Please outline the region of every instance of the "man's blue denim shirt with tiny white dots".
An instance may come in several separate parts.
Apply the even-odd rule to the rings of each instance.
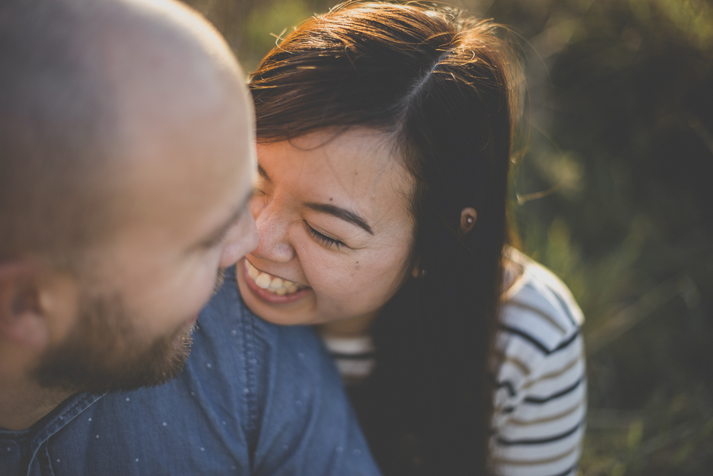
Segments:
[[[0,475],[379,475],[310,328],[257,318],[234,268],[198,324],[174,381],[74,395],[30,430],[0,430]]]

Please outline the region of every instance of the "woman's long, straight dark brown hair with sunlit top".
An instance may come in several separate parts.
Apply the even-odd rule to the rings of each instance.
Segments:
[[[501,294],[514,95],[499,27],[454,9],[349,3],[314,16],[252,74],[259,142],[352,127],[391,134],[415,178],[409,269],[352,392],[386,475],[482,475],[488,353]],[[473,229],[461,233],[461,209]]]

